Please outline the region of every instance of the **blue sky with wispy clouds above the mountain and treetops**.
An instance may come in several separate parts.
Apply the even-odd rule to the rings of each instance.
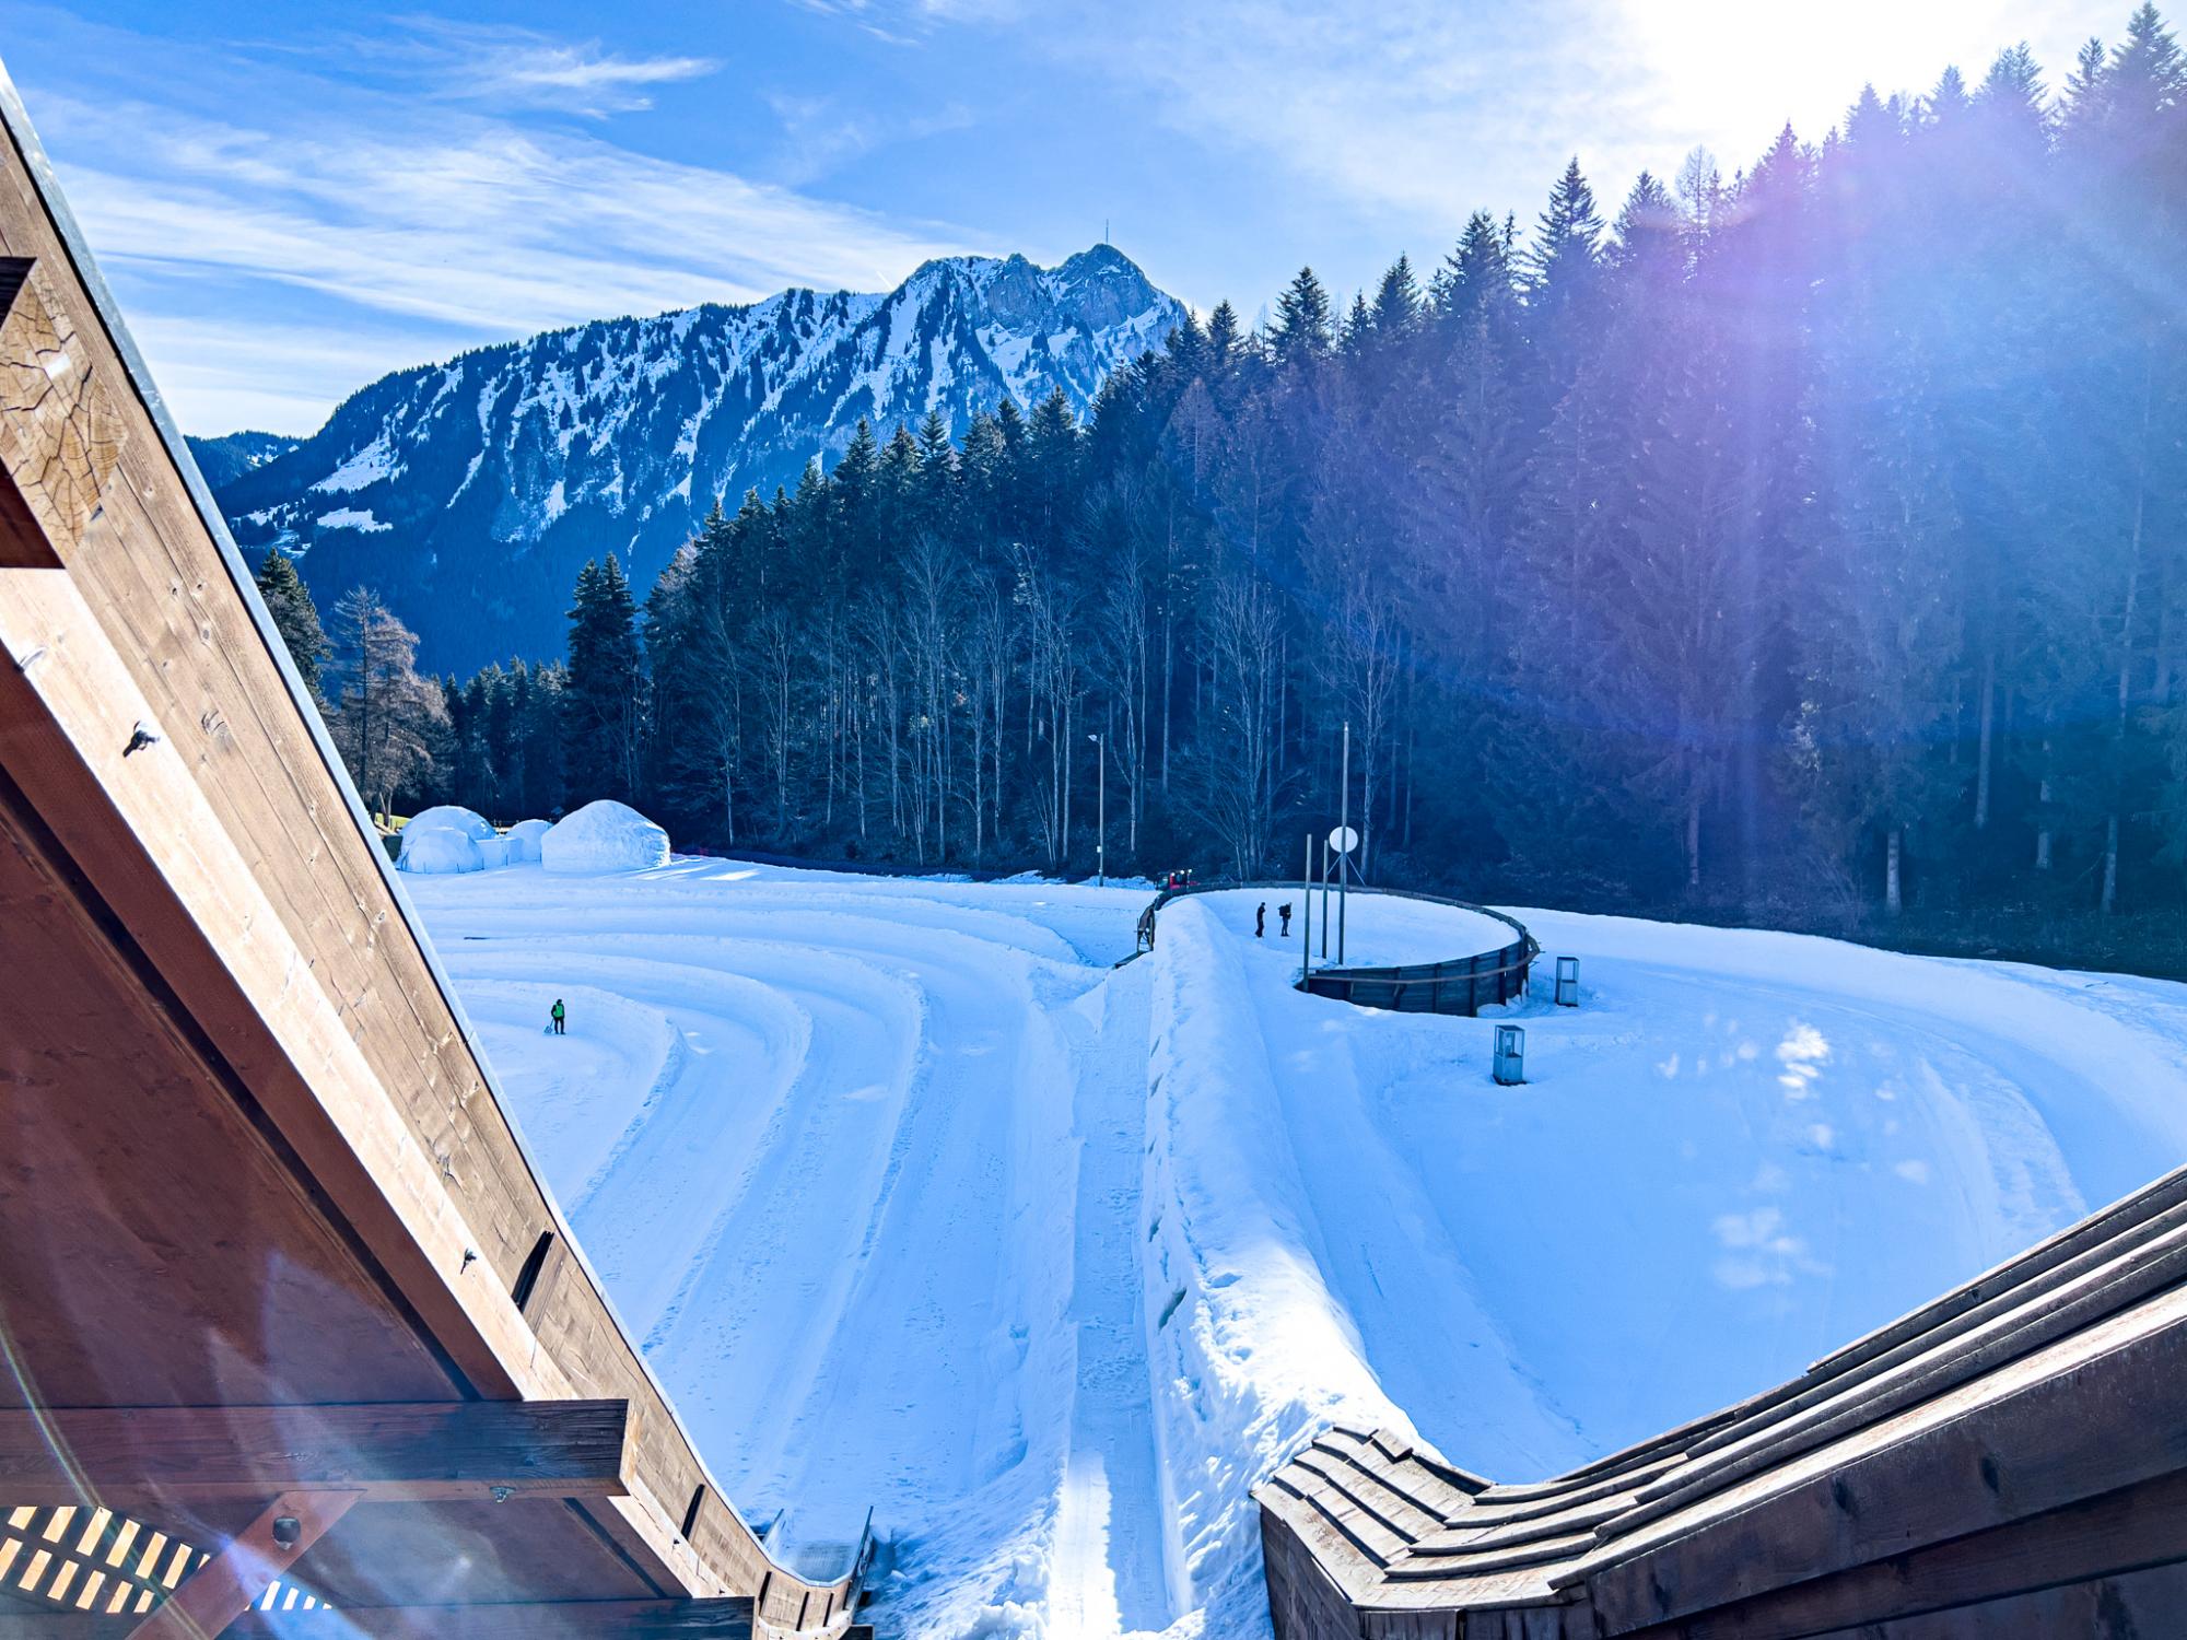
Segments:
[[[0,52],[192,433],[315,429],[461,348],[1102,236],[1249,317],[1465,212],[1605,214],[1693,147],[1977,79],[2128,0],[0,0]]]

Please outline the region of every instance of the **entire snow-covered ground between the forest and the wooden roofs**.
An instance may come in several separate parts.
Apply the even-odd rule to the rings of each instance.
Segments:
[[[1494,1015],[1295,993],[1266,894],[1122,969],[1144,888],[411,894],[730,1496],[811,1570],[868,1504],[894,1539],[884,1633],[1264,1633],[1247,1491],[1323,1421],[1546,1476],[2187,1159],[2161,982],[1520,912],[1583,1006],[1502,1015],[1502,1089]],[[1478,934],[1347,914],[1354,960]]]

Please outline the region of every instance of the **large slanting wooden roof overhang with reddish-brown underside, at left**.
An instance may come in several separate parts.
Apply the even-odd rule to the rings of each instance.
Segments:
[[[201,1601],[256,1546],[348,1633],[840,1627],[525,1155],[4,72],[0,125],[0,1522]],[[59,1631],[35,1553],[0,1636]]]

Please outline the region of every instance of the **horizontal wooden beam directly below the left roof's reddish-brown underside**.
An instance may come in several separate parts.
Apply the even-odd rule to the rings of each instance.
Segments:
[[[0,1500],[619,1498],[630,1402],[0,1410]]]

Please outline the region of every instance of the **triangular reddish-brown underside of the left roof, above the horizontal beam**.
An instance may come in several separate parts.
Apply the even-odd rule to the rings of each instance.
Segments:
[[[0,1406],[457,1399],[81,890],[0,776]]]

